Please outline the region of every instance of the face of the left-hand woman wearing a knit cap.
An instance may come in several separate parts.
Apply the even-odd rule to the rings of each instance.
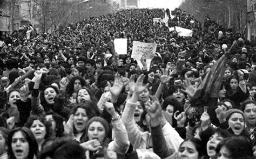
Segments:
[[[106,136],[106,131],[101,122],[93,121],[88,127],[89,140],[97,139],[100,143],[103,142]]]

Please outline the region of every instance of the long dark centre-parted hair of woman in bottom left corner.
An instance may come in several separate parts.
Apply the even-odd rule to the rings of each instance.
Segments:
[[[36,142],[36,138],[33,135],[33,133],[30,131],[29,128],[27,127],[18,127],[15,129],[12,129],[12,131],[10,132],[9,136],[8,136],[8,149],[9,149],[9,157],[12,158],[16,158],[14,153],[12,152],[12,136],[14,136],[15,133],[17,132],[21,132],[24,135],[24,138],[28,141],[29,143],[29,155],[28,158],[29,159],[33,159],[34,156],[37,156],[38,153],[38,146],[37,146],[37,142]]]

